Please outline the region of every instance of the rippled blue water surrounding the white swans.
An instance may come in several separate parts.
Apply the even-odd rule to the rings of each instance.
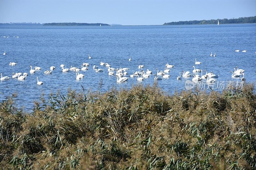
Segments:
[[[180,29],[179,29],[180,27]],[[5,37],[4,37],[5,36]],[[7,36],[9,36],[7,38]],[[14,37],[13,37],[14,36]],[[19,36],[19,38],[17,38]],[[235,50],[247,52],[235,52]],[[6,51],[6,55],[2,55]],[[111,67],[127,67],[128,76],[133,71],[156,68],[164,70],[165,64],[174,65],[170,78],[158,81],[158,86],[168,93],[185,90],[186,78],[177,80],[182,70],[192,73],[195,58],[202,62],[196,68],[213,71],[219,74],[216,82],[241,82],[240,78],[231,78],[230,70],[235,66],[245,70],[247,82],[256,78],[256,24],[232,25],[192,25],[192,26],[0,26],[0,72],[3,76],[12,77],[12,72],[27,72],[25,81],[11,78],[0,81],[0,100],[16,92],[16,103],[25,109],[33,108],[33,101],[40,95],[60,90],[67,93],[68,88],[97,91],[108,91],[112,86],[129,88],[133,84],[152,85],[154,76],[138,82],[129,78],[126,83],[116,83],[115,76],[108,76],[108,70],[100,62],[109,63]],[[216,57],[211,57],[211,52]],[[92,59],[88,59],[88,55]],[[132,61],[129,62],[129,56]],[[17,63],[9,66],[10,62]],[[80,71],[84,78],[76,80],[74,71],[63,73],[60,64],[65,68],[80,67],[90,63],[89,70]],[[29,73],[29,66],[41,67],[35,74]],[[96,73],[93,65],[104,69]],[[55,66],[52,75],[44,75],[45,70]],[[43,81],[37,85],[36,77]],[[193,77],[188,78],[192,80]],[[205,83],[205,80],[204,80]],[[216,87],[215,83],[215,87]],[[225,86],[226,87],[226,86]],[[207,88],[207,86],[206,86]],[[216,90],[220,90],[216,88]]]

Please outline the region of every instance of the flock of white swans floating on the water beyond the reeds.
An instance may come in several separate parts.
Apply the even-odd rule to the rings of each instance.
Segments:
[[[4,52],[3,55],[5,55],[6,53]],[[212,56],[212,53],[211,53],[211,56]],[[216,56],[216,53],[214,53],[214,56]],[[91,59],[91,55],[89,55],[88,59]],[[195,59],[196,60],[196,59]],[[129,57],[128,59],[129,62],[132,61],[131,59],[131,56]],[[195,65],[200,65],[202,62],[198,62],[196,61],[195,62]],[[17,63],[14,63],[14,62],[10,62],[10,66],[15,66]],[[62,72],[68,72],[68,71],[74,71],[76,73],[76,80],[80,80],[81,78],[84,78],[84,74],[80,74],[79,71],[82,70],[82,71],[85,71],[85,70],[88,70],[89,69],[89,63],[83,63],[81,68],[79,67],[70,67],[70,68],[64,68],[65,65],[64,64],[61,64],[60,65],[60,68],[62,70]],[[101,68],[100,68],[101,67]],[[170,70],[174,67],[174,65],[171,65],[171,64],[166,64],[165,65],[165,68],[164,68],[164,71],[159,71],[158,69],[156,74],[153,74],[153,71],[151,70],[148,70],[145,71],[145,70],[141,70],[144,68],[144,65],[139,65],[138,66],[138,69],[140,70],[137,70],[137,71],[134,71],[133,74],[131,75],[128,75],[128,70],[129,68],[119,68],[119,69],[115,69],[115,68],[111,68],[111,65],[109,63],[103,63],[103,62],[100,62],[100,67],[99,66],[96,66],[96,65],[93,65],[93,70],[95,70],[96,73],[100,73],[100,72],[104,72],[104,68],[108,68],[108,75],[109,76],[116,76],[116,82],[117,83],[122,83],[122,82],[126,82],[129,78],[135,78],[137,77],[137,80],[138,81],[143,81],[145,78],[149,78],[151,75],[154,75],[155,78],[154,80],[161,80],[163,78],[169,78],[170,75]],[[206,80],[206,83],[214,83],[217,79],[215,78],[218,78],[219,75],[217,74],[214,74],[213,71],[207,73],[207,70],[204,70],[205,74],[203,75],[203,70],[201,69],[196,69],[195,66],[192,66],[194,68],[194,70],[192,70],[192,73],[190,73],[190,71],[185,71],[183,70],[183,74],[181,76],[181,72],[180,72],[180,76],[177,77],[177,80],[180,80],[181,77],[182,78],[190,78],[193,74],[193,78],[192,78],[192,81],[193,82],[199,82],[199,81],[202,81],[202,80]],[[29,73],[30,74],[33,74],[35,73],[36,71],[38,70],[41,70],[41,67],[34,67],[34,69],[32,69],[32,66],[30,66],[30,70],[29,70]],[[44,74],[45,75],[49,75],[49,74],[52,74],[52,71],[55,70],[55,66],[51,66],[50,67],[50,70],[46,70],[44,71]],[[232,78],[239,78],[240,76],[243,75],[243,78],[241,78],[242,81],[245,80],[244,78],[244,70],[243,69],[238,69],[238,67],[235,67],[234,68],[234,71],[230,71],[230,73],[232,72],[232,75],[231,77]],[[199,75],[198,73],[201,73],[201,75]],[[18,80],[25,80],[28,76],[28,73],[24,72],[23,75],[22,73],[12,73],[12,78],[17,78]],[[1,78],[0,80],[3,81],[3,80],[8,80],[10,79],[10,77],[7,77],[7,76],[4,76],[2,75],[1,73]],[[36,78],[37,79],[37,85],[43,85],[43,82],[42,81],[39,81],[38,80],[38,77]]]

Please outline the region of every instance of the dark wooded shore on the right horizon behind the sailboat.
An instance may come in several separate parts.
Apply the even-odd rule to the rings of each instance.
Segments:
[[[240,17],[233,19],[211,19],[211,20],[194,20],[194,21],[179,21],[179,22],[168,22],[163,25],[200,25],[200,24],[218,24],[218,20],[220,24],[248,24],[248,23],[256,23],[256,16],[254,17]]]

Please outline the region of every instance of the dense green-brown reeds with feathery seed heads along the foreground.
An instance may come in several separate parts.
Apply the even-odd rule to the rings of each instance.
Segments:
[[[156,84],[0,102],[3,169],[255,169],[255,85],[166,95]],[[48,97],[47,97],[48,98]]]

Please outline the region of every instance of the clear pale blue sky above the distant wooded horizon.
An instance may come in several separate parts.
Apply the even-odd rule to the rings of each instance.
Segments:
[[[0,23],[165,22],[256,16],[256,0],[0,0]]]

